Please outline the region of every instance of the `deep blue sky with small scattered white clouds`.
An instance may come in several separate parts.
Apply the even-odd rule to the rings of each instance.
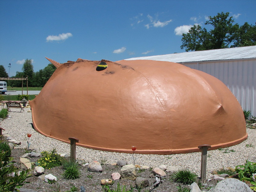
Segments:
[[[255,24],[256,0],[0,0],[0,65],[14,76],[26,59],[34,71],[78,58],[123,60],[185,52],[181,34],[208,16],[230,12]],[[11,63],[11,68],[8,64]]]

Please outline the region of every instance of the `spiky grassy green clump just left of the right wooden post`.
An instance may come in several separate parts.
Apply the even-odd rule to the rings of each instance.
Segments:
[[[188,169],[179,170],[176,173],[173,173],[173,179],[176,182],[183,183],[185,185],[190,185],[195,182],[197,175],[193,172],[190,172]]]

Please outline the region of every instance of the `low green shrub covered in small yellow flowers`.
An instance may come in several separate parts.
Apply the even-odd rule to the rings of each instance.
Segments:
[[[51,152],[42,151],[42,157],[37,160],[37,165],[44,167],[45,169],[51,169],[61,165],[62,158],[57,154],[56,149],[53,149]]]

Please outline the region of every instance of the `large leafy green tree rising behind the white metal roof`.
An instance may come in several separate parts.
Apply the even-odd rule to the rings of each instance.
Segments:
[[[229,17],[229,12],[210,16],[209,21],[204,24],[212,25],[213,29],[208,32],[206,28],[194,25],[187,34],[182,34],[180,48],[186,47],[188,52],[255,45],[256,26],[244,23],[239,27],[238,24],[233,23],[234,20],[232,16]]]

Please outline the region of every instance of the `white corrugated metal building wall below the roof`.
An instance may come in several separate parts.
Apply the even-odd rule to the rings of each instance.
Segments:
[[[220,79],[236,96],[243,110],[256,116],[256,59],[181,63]]]

